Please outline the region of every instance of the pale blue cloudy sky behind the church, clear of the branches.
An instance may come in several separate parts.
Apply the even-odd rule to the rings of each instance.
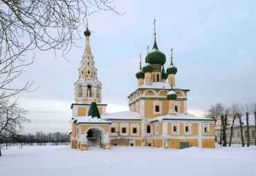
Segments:
[[[156,3],[157,2],[157,3]],[[178,68],[176,85],[188,88],[188,111],[202,115],[221,102],[255,101],[256,1],[131,1],[116,0],[116,10],[100,11],[88,17],[90,45],[102,83],[102,102],[107,112],[128,110],[127,95],[136,90],[139,56],[154,42],[156,19],[158,48],[170,65]],[[84,32],[84,26],[80,28]],[[35,62],[22,79],[35,81],[35,92],[19,95],[19,104],[29,110],[31,124],[25,133],[70,132],[70,105],[75,101],[74,83],[84,52],[85,37],[77,41],[66,61],[61,52],[35,53]],[[143,60],[144,64],[144,60]]]

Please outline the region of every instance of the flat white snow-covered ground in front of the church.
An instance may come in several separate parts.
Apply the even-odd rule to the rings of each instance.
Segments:
[[[0,175],[256,175],[256,147],[163,149],[19,146],[2,150]]]

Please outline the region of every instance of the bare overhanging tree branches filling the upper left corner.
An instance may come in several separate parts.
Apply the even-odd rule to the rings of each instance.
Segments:
[[[1,97],[30,90],[33,82],[13,88],[12,81],[24,72],[28,50],[72,50],[80,39],[83,19],[98,10],[120,14],[110,0],[0,0],[0,92]]]

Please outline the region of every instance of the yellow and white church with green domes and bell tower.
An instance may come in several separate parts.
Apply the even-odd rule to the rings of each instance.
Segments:
[[[166,57],[158,49],[156,30],[152,50],[147,47],[144,66],[140,55],[140,69],[136,73],[138,88],[128,96],[129,110],[119,113],[106,113],[107,104],[101,103],[102,84],[89,45],[88,24],[84,35],[86,46],[75,82],[75,103],[71,104],[71,148],[214,148],[215,121],[188,113],[190,90],[176,85],[178,69],[174,66],[173,49],[171,64],[165,70]]]

